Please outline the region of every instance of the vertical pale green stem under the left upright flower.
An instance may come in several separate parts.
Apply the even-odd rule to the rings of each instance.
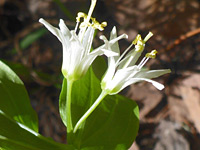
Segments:
[[[67,141],[70,143],[71,135],[73,131],[72,118],[71,118],[71,94],[72,94],[72,85],[73,80],[67,80],[67,95],[66,95],[66,113],[67,113]]]

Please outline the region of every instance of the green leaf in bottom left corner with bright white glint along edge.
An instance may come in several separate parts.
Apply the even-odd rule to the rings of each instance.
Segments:
[[[4,150],[74,150],[43,137],[26,126],[12,120],[0,111],[0,149]]]

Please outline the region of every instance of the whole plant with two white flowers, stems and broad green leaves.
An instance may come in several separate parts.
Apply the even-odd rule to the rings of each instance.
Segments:
[[[136,102],[118,93],[140,81],[162,90],[164,85],[152,78],[170,70],[143,68],[149,59],[156,57],[156,50],[138,62],[145,43],[153,35],[151,32],[144,39],[138,35],[120,54],[118,41],[128,36],[118,36],[113,27],[109,40],[101,35],[104,44],[91,50],[95,30],[102,31],[107,25],[92,17],[95,5],[96,0],[91,0],[88,14],[78,13],[74,30],[69,30],[62,19],[59,28],[42,18],[39,20],[63,48],[59,111],[67,129],[67,144],[39,134],[37,115],[22,81],[0,62],[1,150],[127,150],[132,145],[139,129],[139,109]],[[101,55],[107,57],[108,68],[100,81],[91,65]]]

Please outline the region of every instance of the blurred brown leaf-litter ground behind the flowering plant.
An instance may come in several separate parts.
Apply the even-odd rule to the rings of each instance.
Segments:
[[[88,12],[90,0],[0,0],[0,59],[23,80],[38,113],[40,133],[65,142],[65,127],[58,112],[61,90],[62,47],[39,22],[54,26],[64,19],[74,29],[76,14]],[[200,150],[200,1],[98,0],[93,17],[107,21],[129,35],[122,51],[140,33],[154,36],[145,53],[157,49],[150,69],[171,69],[151,84],[131,85],[122,94],[140,107],[140,130],[131,150]],[[102,41],[96,36],[93,46]],[[97,75],[98,76],[98,75]]]

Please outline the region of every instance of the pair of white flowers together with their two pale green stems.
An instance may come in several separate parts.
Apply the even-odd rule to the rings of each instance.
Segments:
[[[103,35],[100,36],[100,39],[104,41],[104,44],[91,51],[95,29],[102,31],[107,25],[106,22],[99,23],[92,17],[96,1],[97,0],[91,0],[88,14],[82,12],[78,13],[76,17],[77,24],[74,30],[70,31],[62,19],[59,23],[60,29],[52,26],[42,18],[39,20],[39,22],[44,24],[44,26],[62,43],[62,73],[67,79],[67,94],[66,102],[63,103],[64,105],[66,104],[66,109],[61,109],[60,112],[61,114],[67,114],[64,115],[65,117],[62,119],[67,122],[68,133],[71,133],[72,130],[75,133],[106,95],[117,94],[125,87],[140,81],[150,82],[157,89],[162,90],[164,85],[151,79],[170,73],[169,69],[144,69],[143,66],[147,61],[150,58],[153,59],[156,57],[156,50],[147,53],[145,57],[138,62],[138,59],[145,48],[145,43],[153,35],[151,32],[149,32],[144,39],[142,39],[141,35],[138,35],[124,53],[120,55],[118,41],[123,38],[128,38],[128,36],[126,34],[117,36],[117,30],[113,27],[110,33],[110,39],[108,40]],[[96,57],[100,55],[106,55],[108,57],[108,69],[101,80],[102,92],[73,129],[71,119],[71,89],[73,82],[83,77]]]

